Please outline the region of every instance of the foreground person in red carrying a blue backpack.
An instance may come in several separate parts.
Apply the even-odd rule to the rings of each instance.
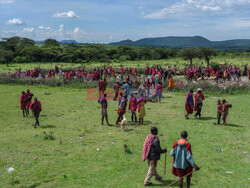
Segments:
[[[191,144],[187,140],[188,134],[182,131],[181,139],[174,143],[170,155],[174,157],[172,174],[177,177],[183,177],[200,168],[194,163],[192,157]],[[192,173],[187,176],[187,187],[190,187]],[[179,187],[183,187],[183,178],[179,180]]]

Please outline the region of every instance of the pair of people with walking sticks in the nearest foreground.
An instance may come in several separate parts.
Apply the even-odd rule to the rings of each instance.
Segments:
[[[157,172],[157,163],[160,160],[160,155],[166,153],[167,149],[162,149],[158,135],[158,129],[151,127],[149,134],[144,142],[142,161],[148,161],[148,173],[144,180],[145,186],[151,186],[151,178],[160,181],[162,176]],[[193,159],[191,144],[187,140],[188,133],[181,132],[181,139],[176,141],[171,149],[170,155],[173,157],[172,174],[179,177],[179,187],[183,187],[183,178],[187,177],[187,187],[190,187],[193,169],[199,170]],[[166,165],[166,164],[164,164]],[[164,166],[166,168],[166,166]]]

